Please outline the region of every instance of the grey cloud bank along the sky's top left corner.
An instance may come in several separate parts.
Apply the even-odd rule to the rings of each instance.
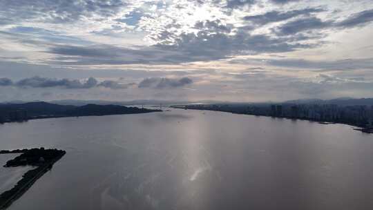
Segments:
[[[127,4],[121,0],[3,0],[0,8],[13,21],[43,19],[54,23],[77,21],[84,17],[111,17]]]

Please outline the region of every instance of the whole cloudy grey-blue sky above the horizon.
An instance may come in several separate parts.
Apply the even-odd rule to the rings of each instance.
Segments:
[[[0,0],[0,101],[373,97],[372,37],[372,0]]]

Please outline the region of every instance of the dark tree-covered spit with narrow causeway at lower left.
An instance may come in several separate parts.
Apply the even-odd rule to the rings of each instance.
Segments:
[[[6,209],[12,202],[21,197],[37,179],[41,178],[44,173],[52,168],[57,160],[66,154],[66,151],[44,149],[43,147],[40,149],[0,151],[0,154],[6,153],[21,153],[21,155],[12,160],[8,160],[4,167],[37,166],[37,168],[27,171],[23,174],[22,179],[15,184],[15,187],[0,194],[0,209]]]

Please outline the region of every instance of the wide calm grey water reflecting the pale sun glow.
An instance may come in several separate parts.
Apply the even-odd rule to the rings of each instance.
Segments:
[[[1,149],[66,155],[10,209],[373,209],[373,135],[172,110],[0,126]]]

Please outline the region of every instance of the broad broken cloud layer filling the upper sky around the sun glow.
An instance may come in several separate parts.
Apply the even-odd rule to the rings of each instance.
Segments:
[[[9,8],[1,10],[1,15],[6,18],[0,17],[0,24],[1,21],[10,21],[15,26],[2,30],[0,39],[11,40],[12,46],[19,46],[19,50],[27,52],[23,61],[51,66],[183,64],[315,48],[325,44],[322,38],[327,33],[321,30],[364,26],[372,19],[372,10],[357,12],[337,22],[327,19],[332,16],[328,14],[327,6],[317,7],[318,4],[310,3],[312,7],[304,7],[307,4],[302,3],[289,10],[271,3],[265,7],[267,3],[256,0],[166,3],[6,0],[0,2],[0,7]],[[254,6],[261,14],[245,16],[248,13],[239,10],[227,12],[227,8],[249,6]],[[204,15],[196,15],[197,12]],[[164,14],[162,18],[160,14]],[[245,16],[243,22],[242,16]],[[82,22],[71,24],[79,20]],[[30,25],[28,21],[35,24]],[[279,26],[280,21],[285,23]],[[276,23],[276,26],[260,28],[267,23]],[[124,30],[122,25],[132,29]],[[306,31],[311,33],[302,33]],[[108,39],[99,37],[103,35]],[[126,39],[118,39],[122,35]],[[136,45],[132,40],[140,41]],[[150,41],[144,43],[144,40]],[[9,45],[9,54],[14,54],[12,49]]]

